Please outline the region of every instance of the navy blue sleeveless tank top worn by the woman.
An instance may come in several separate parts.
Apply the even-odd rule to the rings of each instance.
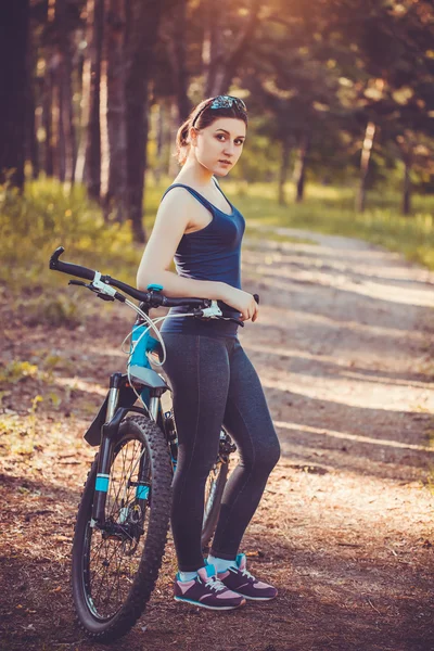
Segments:
[[[217,182],[216,187],[225,196]],[[182,235],[174,257],[178,276],[195,280],[221,281],[241,290],[241,241],[245,229],[244,217],[226,196],[226,201],[232,208],[230,215],[213,205],[194,188],[182,183],[174,183],[167,188],[162,201],[173,188],[188,190],[213,216],[212,221],[201,230]],[[199,296],[199,298],[208,298],[208,296]],[[225,315],[240,317],[240,312],[229,305],[221,301],[218,303],[225,310]],[[186,307],[173,307],[169,315],[181,315],[187,311],[189,310]],[[194,317],[177,317],[166,319],[162,332],[237,337],[238,328],[233,321],[219,319],[204,321]]]

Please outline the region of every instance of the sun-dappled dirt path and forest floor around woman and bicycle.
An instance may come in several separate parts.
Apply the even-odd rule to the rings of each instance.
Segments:
[[[170,541],[143,616],[110,648],[434,650],[434,275],[357,240],[258,235],[243,275],[260,315],[240,339],[282,457],[243,550],[279,597],[226,614],[175,602]],[[93,457],[81,436],[131,319],[92,298],[78,328],[50,329],[3,290],[2,651],[104,648],[74,622],[71,540]]]

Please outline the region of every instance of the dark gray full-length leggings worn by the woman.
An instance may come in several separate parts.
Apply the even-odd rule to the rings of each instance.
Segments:
[[[232,560],[280,457],[280,445],[252,362],[230,337],[163,333],[174,391],[178,465],[171,528],[181,572],[204,564],[201,548],[205,482],[225,424],[240,463],[225,488],[212,554]]]

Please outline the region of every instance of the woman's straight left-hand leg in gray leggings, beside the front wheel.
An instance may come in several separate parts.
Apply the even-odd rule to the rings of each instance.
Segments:
[[[164,371],[174,392],[178,464],[171,528],[181,572],[203,567],[201,547],[205,483],[215,463],[229,387],[225,340],[164,334]]]

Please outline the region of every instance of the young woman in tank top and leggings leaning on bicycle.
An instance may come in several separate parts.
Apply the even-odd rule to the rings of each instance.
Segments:
[[[201,102],[180,127],[177,153],[182,169],[163,196],[137,281],[141,290],[158,283],[167,296],[217,299],[226,312],[256,321],[258,306],[241,289],[244,219],[214,178],[225,177],[237,164],[246,127],[244,102],[230,95]],[[177,273],[168,270],[173,258]],[[173,315],[183,311],[170,310]],[[164,370],[174,392],[179,442],[171,508],[179,565],[175,599],[216,610],[277,595],[276,588],[247,572],[245,556],[239,553],[280,446],[237,329],[233,321],[179,316],[166,319],[162,328],[167,350]],[[204,489],[222,423],[241,460],[225,488],[213,546],[204,561]]]

